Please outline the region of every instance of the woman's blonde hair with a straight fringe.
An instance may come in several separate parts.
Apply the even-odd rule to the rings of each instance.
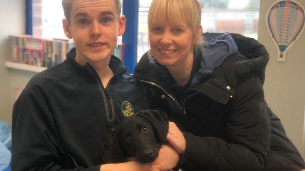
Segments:
[[[201,27],[201,6],[197,0],[153,0],[148,10],[148,30],[156,22],[163,25],[177,25],[184,22],[197,38],[194,52],[204,47],[204,41],[198,29]],[[148,57],[152,60],[149,50]]]

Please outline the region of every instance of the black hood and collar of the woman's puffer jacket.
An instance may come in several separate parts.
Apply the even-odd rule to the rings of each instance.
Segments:
[[[209,33],[205,33],[203,36]],[[265,80],[265,68],[269,54],[257,40],[239,34],[231,34],[238,51],[231,55],[213,71],[202,83],[189,90],[205,94],[213,100],[226,104],[234,97],[237,79],[249,72],[257,74],[262,84]],[[204,57],[203,57],[204,58]],[[148,60],[147,53],[143,55],[135,68],[134,76],[139,80],[158,84],[170,92],[166,83],[160,79],[160,71]]]

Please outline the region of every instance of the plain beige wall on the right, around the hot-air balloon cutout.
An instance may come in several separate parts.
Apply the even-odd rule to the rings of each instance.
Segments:
[[[304,0],[297,0],[305,7]],[[305,32],[288,50],[286,62],[277,61],[277,47],[266,27],[266,14],[275,0],[261,0],[258,41],[270,54],[264,84],[265,97],[272,111],[281,119],[288,137],[305,158]]]

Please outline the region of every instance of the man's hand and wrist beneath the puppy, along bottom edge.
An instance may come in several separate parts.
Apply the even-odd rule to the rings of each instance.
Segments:
[[[103,164],[100,171],[159,171],[156,167],[149,164],[142,164],[136,161],[129,161],[117,164]]]

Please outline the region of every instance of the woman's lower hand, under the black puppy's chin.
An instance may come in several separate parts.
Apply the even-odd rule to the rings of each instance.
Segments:
[[[159,150],[158,158],[151,165],[159,169],[170,170],[176,167],[179,161],[179,153],[171,145],[162,145]]]

